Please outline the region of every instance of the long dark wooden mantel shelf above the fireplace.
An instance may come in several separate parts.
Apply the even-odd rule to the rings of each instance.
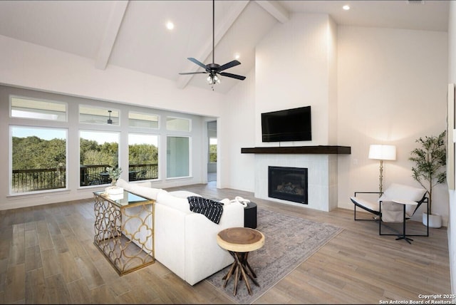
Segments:
[[[282,146],[269,148],[241,148],[241,153],[268,153],[268,154],[351,154],[350,146]]]

